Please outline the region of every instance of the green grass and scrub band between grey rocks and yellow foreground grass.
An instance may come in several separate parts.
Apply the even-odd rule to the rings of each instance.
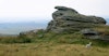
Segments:
[[[97,30],[104,31],[107,27],[102,28],[94,28]],[[108,32],[104,31],[104,32]],[[102,33],[104,34],[104,33]],[[17,37],[17,38],[0,38],[0,43],[40,43],[40,42],[53,42],[53,43],[65,43],[65,44],[87,44],[93,42],[93,45],[96,46],[109,46],[107,41],[101,40],[88,40],[84,39],[84,36],[80,32],[75,33],[55,33],[55,32],[45,32],[44,30],[39,30],[36,37]]]

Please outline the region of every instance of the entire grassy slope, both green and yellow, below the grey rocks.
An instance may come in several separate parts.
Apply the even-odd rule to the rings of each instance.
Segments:
[[[109,34],[109,26],[94,29]],[[85,45],[92,42],[90,48]],[[55,33],[39,30],[35,36],[0,38],[0,56],[109,56],[109,42],[84,39],[80,32]]]

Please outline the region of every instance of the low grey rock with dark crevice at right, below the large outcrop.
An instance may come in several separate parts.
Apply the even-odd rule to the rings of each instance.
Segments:
[[[109,36],[101,36],[98,31],[94,29],[83,29],[81,30],[81,33],[84,36],[85,39],[109,41]]]

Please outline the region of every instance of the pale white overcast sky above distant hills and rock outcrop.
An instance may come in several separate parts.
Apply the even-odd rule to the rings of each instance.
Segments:
[[[109,17],[109,0],[0,0],[0,23],[50,20],[56,5]]]

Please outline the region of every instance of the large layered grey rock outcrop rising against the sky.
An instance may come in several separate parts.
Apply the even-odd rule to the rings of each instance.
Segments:
[[[52,13],[53,19],[48,24],[47,31],[57,33],[75,32],[85,28],[93,28],[99,24],[106,25],[102,17],[82,15],[77,11],[65,6],[56,6],[55,9],[58,11]]]

